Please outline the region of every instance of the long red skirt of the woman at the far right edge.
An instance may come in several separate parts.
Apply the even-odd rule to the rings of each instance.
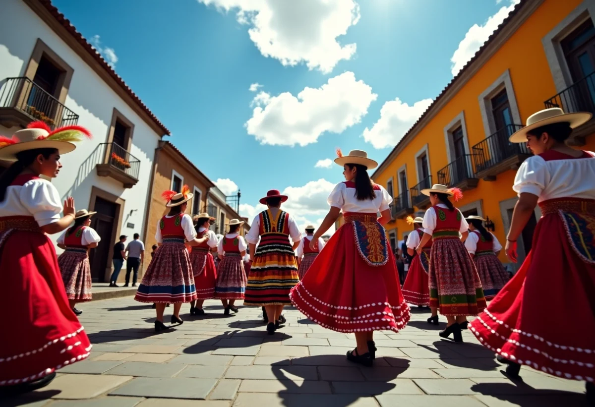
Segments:
[[[543,206],[542,212],[531,252],[470,329],[482,345],[513,362],[593,382],[595,262],[578,255],[572,239],[593,244],[588,224],[595,211],[577,222],[585,226],[580,234],[570,233],[559,212],[546,214]]]

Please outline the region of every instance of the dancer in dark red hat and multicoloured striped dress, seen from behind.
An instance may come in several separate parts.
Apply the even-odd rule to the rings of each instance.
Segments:
[[[291,304],[289,291],[299,281],[294,250],[299,245],[301,233],[293,217],[281,210],[281,203],[286,201],[287,196],[278,190],[268,191],[260,200],[268,209],[254,218],[246,235],[252,267],[244,305],[265,307],[270,335],[281,327],[283,306]]]

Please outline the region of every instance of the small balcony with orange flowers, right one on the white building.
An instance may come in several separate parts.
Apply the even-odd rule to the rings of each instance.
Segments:
[[[140,160],[116,143],[99,145],[102,161],[96,165],[97,175],[112,177],[131,188],[139,181]]]

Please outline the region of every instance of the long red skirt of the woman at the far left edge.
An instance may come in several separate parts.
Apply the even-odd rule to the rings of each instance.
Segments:
[[[89,356],[91,344],[70,306],[54,245],[39,232],[0,231],[0,386],[37,380]]]

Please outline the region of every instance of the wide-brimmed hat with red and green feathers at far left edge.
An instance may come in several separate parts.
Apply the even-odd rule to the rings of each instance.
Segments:
[[[49,128],[43,121],[29,123],[27,129],[18,130],[12,138],[0,136],[0,159],[17,161],[17,154],[21,151],[37,148],[55,148],[59,154],[73,151],[78,142],[83,139],[81,134],[91,137],[89,130],[81,126],[64,126],[56,130]]]

